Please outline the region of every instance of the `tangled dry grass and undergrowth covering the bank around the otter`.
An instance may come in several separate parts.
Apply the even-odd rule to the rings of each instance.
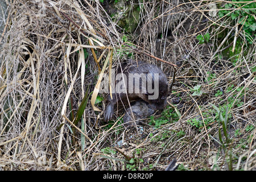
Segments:
[[[255,170],[255,3],[126,1],[130,32],[106,1],[6,1],[0,169]],[[104,123],[97,93],[98,73],[131,58],[169,84],[176,70],[167,108],[137,129],[123,107]]]

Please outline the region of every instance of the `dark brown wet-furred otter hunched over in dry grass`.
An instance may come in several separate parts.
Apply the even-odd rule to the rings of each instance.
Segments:
[[[121,64],[121,68],[117,70],[117,77],[112,88],[112,98],[110,94],[107,97],[108,105],[104,111],[106,122],[113,118],[114,105],[118,101],[143,100],[153,110],[162,110],[166,107],[167,77],[156,65],[143,61],[129,61]]]

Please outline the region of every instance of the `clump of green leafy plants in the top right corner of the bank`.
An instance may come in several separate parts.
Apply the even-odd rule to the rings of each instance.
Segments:
[[[232,19],[231,24],[234,25],[233,22],[238,22],[240,27],[242,26],[243,30],[245,31],[245,36],[247,42],[253,44],[254,37],[255,37],[255,30],[256,30],[256,3],[253,0],[246,1],[244,3],[236,3],[236,2],[243,2],[243,0],[232,0],[230,3],[226,3],[224,7],[218,11],[218,16],[222,18],[223,16],[228,16]],[[236,20],[237,21],[234,21]]]

